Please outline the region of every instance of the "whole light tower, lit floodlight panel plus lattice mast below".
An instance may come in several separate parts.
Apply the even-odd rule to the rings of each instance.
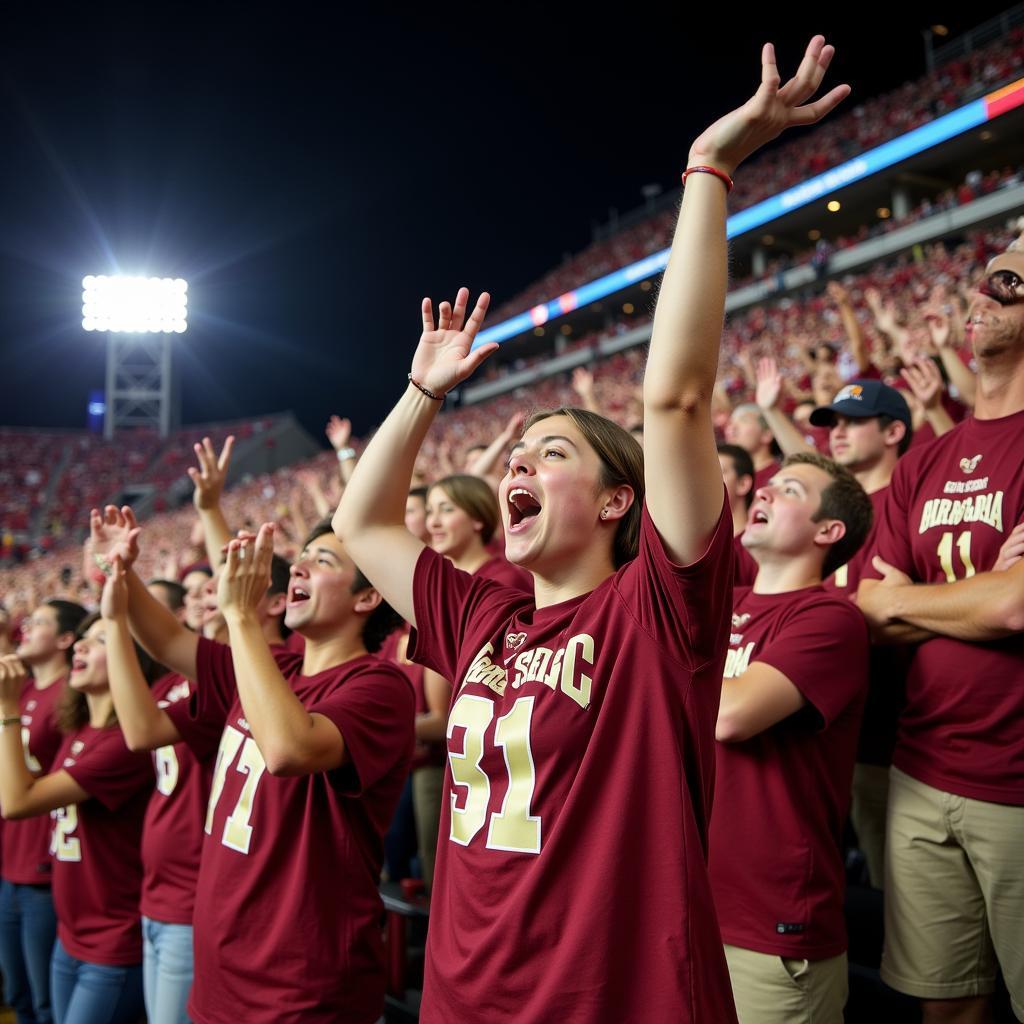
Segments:
[[[82,327],[106,333],[103,436],[118,427],[171,430],[171,343],[188,327],[188,285],[180,278],[82,279]]]

